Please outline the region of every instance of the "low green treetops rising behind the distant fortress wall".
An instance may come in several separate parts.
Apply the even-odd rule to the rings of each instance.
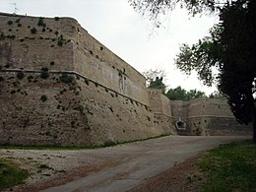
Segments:
[[[169,89],[165,96],[171,100],[190,100],[193,98],[206,97],[205,93],[203,92],[197,90],[190,90],[187,92],[180,86],[175,89]]]

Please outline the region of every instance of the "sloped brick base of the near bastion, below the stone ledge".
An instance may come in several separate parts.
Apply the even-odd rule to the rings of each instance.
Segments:
[[[76,75],[0,73],[0,145],[96,146],[169,134],[149,107]]]

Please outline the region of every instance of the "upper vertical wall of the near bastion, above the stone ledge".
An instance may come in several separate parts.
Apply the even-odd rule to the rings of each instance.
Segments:
[[[1,68],[77,71],[149,105],[146,79],[76,20],[8,14],[0,14],[0,20]]]

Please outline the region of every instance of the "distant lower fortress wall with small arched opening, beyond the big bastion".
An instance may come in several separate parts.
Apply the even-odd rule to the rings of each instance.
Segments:
[[[181,135],[248,135],[251,127],[240,125],[229,109],[225,99],[196,98],[189,101],[169,100],[160,90],[149,90],[150,102],[155,116],[169,127],[178,120],[184,121],[187,129],[177,130]],[[166,120],[167,119],[167,120]]]

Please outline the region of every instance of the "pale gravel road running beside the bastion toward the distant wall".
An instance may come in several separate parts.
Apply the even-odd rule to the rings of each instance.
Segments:
[[[169,136],[99,150],[79,151],[80,160],[106,164],[87,176],[50,187],[55,191],[126,191],[146,179],[220,144],[250,139],[244,136]],[[74,155],[74,154],[73,154]],[[78,157],[78,158],[79,158]],[[83,171],[80,169],[80,171]]]

